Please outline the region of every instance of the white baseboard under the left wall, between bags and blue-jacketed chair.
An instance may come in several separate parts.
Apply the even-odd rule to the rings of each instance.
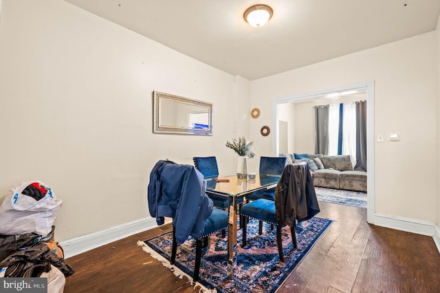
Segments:
[[[64,250],[65,259],[77,254],[92,250],[104,244],[129,237],[136,233],[157,227],[156,220],[152,217],[138,219],[105,230],[89,233],[72,239],[60,241]]]

